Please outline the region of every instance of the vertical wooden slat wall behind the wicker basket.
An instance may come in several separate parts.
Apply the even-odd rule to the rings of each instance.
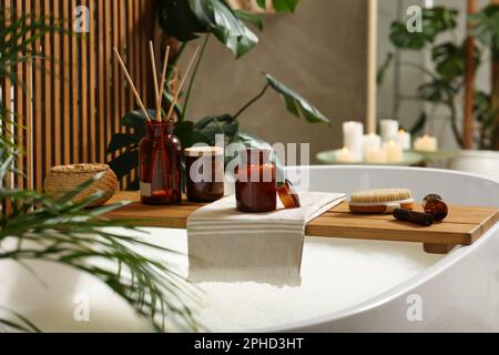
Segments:
[[[121,130],[121,116],[136,106],[113,47],[122,53],[142,97],[153,102],[146,51],[155,17],[152,4],[150,0],[1,0],[0,10],[11,14],[10,21],[34,12],[64,20],[67,28],[34,43],[29,51],[44,59],[13,68],[18,83],[0,83],[2,102],[17,113],[17,125],[1,122],[2,129],[11,130],[26,149],[17,161],[26,176],[8,176],[3,183],[41,190],[52,165],[109,161],[106,145]],[[90,9],[90,33],[72,31],[79,6]]]

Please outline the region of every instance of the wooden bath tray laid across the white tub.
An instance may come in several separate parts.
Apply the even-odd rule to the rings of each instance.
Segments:
[[[185,229],[189,215],[203,206],[184,202],[175,206],[142,205],[136,192],[119,192],[109,203],[130,205],[106,214],[109,219],[133,219],[141,226]],[[359,215],[348,212],[346,202],[308,223],[306,235],[376,241],[422,243],[428,253],[446,254],[456,245],[470,245],[499,222],[493,207],[449,206],[442,223],[429,227],[395,221],[391,215]]]

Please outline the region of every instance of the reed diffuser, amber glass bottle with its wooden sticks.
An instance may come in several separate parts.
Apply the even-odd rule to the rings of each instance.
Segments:
[[[140,193],[141,202],[150,205],[165,205],[180,204],[182,202],[182,146],[177,136],[173,134],[175,120],[173,118],[173,108],[179,100],[179,93],[185,83],[185,79],[191,71],[191,67],[197,55],[196,49],[194,55],[189,63],[187,71],[175,93],[170,110],[165,118],[162,112],[162,98],[165,85],[167,60],[170,54],[170,47],[166,47],[165,59],[161,73],[161,83],[157,82],[156,64],[154,59],[154,45],[150,41],[151,65],[154,79],[154,94],[155,94],[155,116],[150,118],[147,110],[136,91],[135,84],[129,74],[126,65],[124,64],[120,53],[116,49],[118,61],[120,62],[123,72],[129,81],[130,88],[133,91],[135,100],[145,116],[146,134],[139,144],[139,173],[140,173]]]

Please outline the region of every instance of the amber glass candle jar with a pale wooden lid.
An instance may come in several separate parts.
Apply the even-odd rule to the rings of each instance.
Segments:
[[[185,150],[187,199],[213,202],[224,196],[224,150],[197,146]]]

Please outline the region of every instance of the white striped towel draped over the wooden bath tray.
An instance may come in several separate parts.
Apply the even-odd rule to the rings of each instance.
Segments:
[[[345,194],[299,193],[302,207],[241,213],[234,196],[195,211],[187,220],[192,282],[301,283],[307,223],[346,199]]]

